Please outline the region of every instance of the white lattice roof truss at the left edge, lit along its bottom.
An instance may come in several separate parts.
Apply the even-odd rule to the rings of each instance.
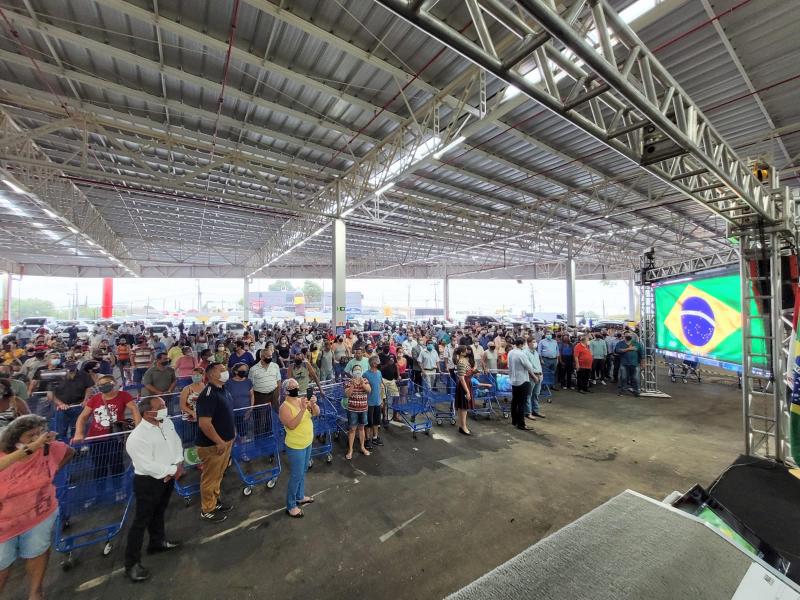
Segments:
[[[0,109],[0,132],[3,137],[19,133],[21,128],[5,111]],[[37,161],[36,167],[22,167],[19,160]],[[94,247],[116,262],[131,275],[138,274],[139,265],[122,240],[117,236],[100,212],[85,194],[72,182],[63,178],[58,165],[31,140],[17,150],[16,158],[0,160],[0,165],[8,176],[28,193],[28,197],[48,216],[54,218],[81,240]]]

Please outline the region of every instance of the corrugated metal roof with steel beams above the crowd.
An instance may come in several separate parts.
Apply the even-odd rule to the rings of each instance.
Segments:
[[[576,29],[621,15],[649,58],[620,58],[622,35],[582,35],[638,65],[643,93],[672,81],[663,66],[677,85],[652,99],[707,119],[698,143],[716,144],[734,183],[751,185],[734,171],[752,159],[796,178],[791,2],[6,0],[0,268],[328,277],[337,216],[348,277],[563,277],[567,256],[579,277],[627,277],[651,246],[729,253],[747,190],[718,194],[688,159],[659,163],[688,170],[665,181],[626,156],[615,145],[637,142],[635,111],[536,29],[535,5]],[[524,89],[459,37],[498,68],[531,42],[512,61]],[[598,121],[619,131],[600,140]]]

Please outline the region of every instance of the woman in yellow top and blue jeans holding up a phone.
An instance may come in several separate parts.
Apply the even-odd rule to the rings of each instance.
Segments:
[[[314,441],[311,417],[319,414],[319,406],[313,394],[299,395],[300,385],[296,379],[284,381],[283,391],[285,400],[279,416],[286,429],[286,458],[291,470],[286,491],[286,514],[299,519],[303,516],[300,507],[314,502],[313,498],[305,495],[304,486],[308,463],[311,461],[311,443]]]

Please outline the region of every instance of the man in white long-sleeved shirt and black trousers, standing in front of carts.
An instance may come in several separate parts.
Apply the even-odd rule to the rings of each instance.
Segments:
[[[136,496],[136,515],[125,548],[125,574],[134,582],[150,578],[150,572],[141,563],[145,529],[150,534],[148,554],[180,546],[179,542],[167,541],[164,535],[164,513],[175,479],[183,474],[183,444],[167,416],[164,400],[150,396],[137,406],[142,420],[125,443],[125,451],[133,463]]]

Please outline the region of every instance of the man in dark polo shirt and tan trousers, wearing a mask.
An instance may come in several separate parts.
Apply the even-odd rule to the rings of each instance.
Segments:
[[[203,520],[221,523],[233,506],[220,499],[222,476],[230,461],[236,428],[233,422],[233,400],[225,388],[228,369],[220,363],[206,367],[208,385],[197,397],[197,454],[203,461],[200,476],[200,499]]]

